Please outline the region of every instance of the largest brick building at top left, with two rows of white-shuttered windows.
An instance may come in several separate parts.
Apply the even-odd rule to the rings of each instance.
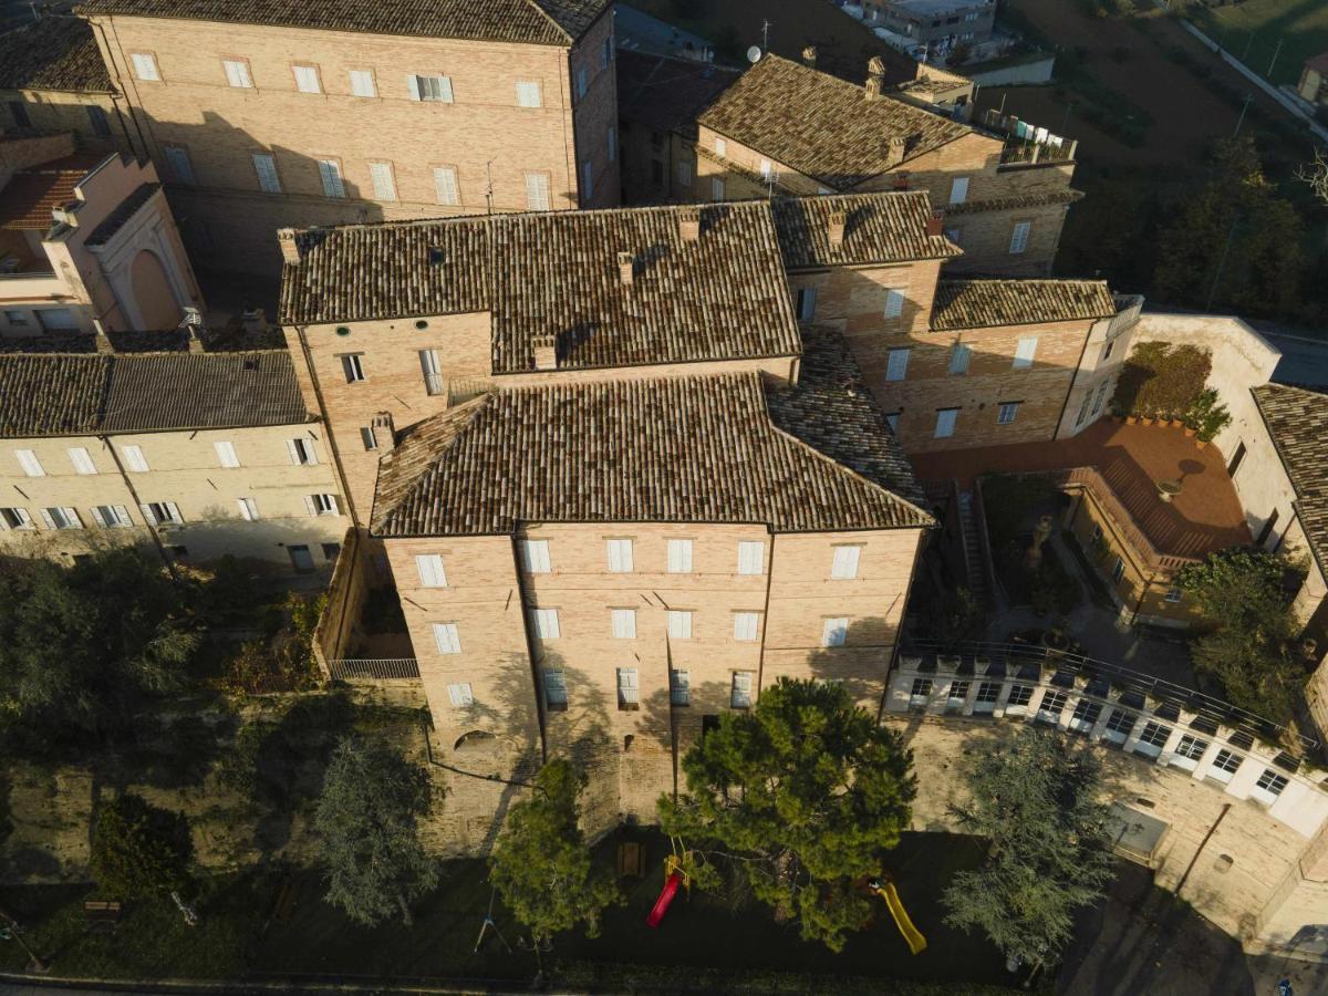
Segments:
[[[199,266],[274,232],[619,199],[606,0],[90,0]]]

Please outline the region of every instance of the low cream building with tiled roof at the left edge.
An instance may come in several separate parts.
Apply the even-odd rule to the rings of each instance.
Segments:
[[[325,567],[348,522],[321,436],[284,349],[0,355],[0,548]]]

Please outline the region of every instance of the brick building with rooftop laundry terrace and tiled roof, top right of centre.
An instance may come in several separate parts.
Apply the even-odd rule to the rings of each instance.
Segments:
[[[923,190],[964,250],[952,271],[1049,274],[1080,198],[1070,187],[1076,145],[1004,118],[983,127],[956,120],[971,98],[948,85],[942,109],[924,109],[916,86],[891,88],[876,60],[870,69],[855,86],[764,57],[699,118],[695,199]]]

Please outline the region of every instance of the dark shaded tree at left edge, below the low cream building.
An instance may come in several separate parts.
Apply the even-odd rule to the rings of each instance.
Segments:
[[[175,687],[198,647],[181,592],[133,548],[0,570],[0,732],[11,745],[101,737]]]

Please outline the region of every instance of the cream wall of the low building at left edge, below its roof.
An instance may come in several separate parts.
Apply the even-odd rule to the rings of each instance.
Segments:
[[[139,503],[174,502],[183,525],[162,525],[162,543],[183,546],[189,562],[206,562],[223,554],[254,556],[291,566],[288,547],[309,547],[313,564],[328,562],[324,543],[340,543],[348,519],[341,515],[311,517],[305,495],[332,494],[341,499],[336,474],[327,450],[317,440],[315,425],[264,426],[248,429],[139,433],[102,437],[50,437],[0,441],[0,507],[21,507],[33,529],[5,530],[0,543],[16,548],[39,547],[49,555],[73,555],[98,543],[134,542],[151,544]],[[320,462],[295,466],[287,440],[313,441]],[[222,467],[218,441],[231,442],[239,467]],[[135,445],[147,461],[146,473],[121,473],[124,448]],[[96,474],[77,474],[70,448],[88,450]],[[114,448],[114,454],[112,453]],[[44,477],[27,477],[15,450],[32,450],[41,462]],[[246,521],[238,501],[252,498],[259,519]],[[133,526],[101,529],[92,514],[94,506],[124,506]],[[41,509],[73,507],[82,529],[48,530]]]

